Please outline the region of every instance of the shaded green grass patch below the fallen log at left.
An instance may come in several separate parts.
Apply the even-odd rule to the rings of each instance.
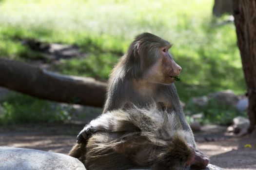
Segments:
[[[12,93],[0,104],[0,124],[62,122],[70,119],[68,107]]]

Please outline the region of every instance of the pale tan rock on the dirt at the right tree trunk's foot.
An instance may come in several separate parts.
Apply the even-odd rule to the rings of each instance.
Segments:
[[[234,133],[238,134],[240,132],[247,131],[250,126],[250,120],[241,116],[233,119]]]

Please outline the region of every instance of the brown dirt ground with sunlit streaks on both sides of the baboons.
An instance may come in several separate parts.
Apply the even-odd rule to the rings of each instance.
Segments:
[[[82,127],[82,123],[0,127],[0,146],[67,154]],[[225,170],[256,170],[256,134],[238,138],[227,135],[225,130],[221,126],[204,126],[195,133],[198,148],[210,156],[212,164]],[[245,148],[245,144],[252,148]]]

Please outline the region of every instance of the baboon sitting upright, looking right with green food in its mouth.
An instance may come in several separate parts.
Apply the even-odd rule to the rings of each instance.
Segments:
[[[139,34],[112,70],[103,113],[122,108],[127,102],[132,102],[138,107],[163,102],[168,113],[173,111],[177,126],[189,133],[192,138],[189,142],[197,149],[173,84],[181,67],[168,51],[171,46],[168,41],[156,35]],[[86,141],[90,130],[88,126],[82,129],[77,137],[77,143]],[[196,157],[200,157],[198,160],[204,161],[197,162],[195,159],[194,166],[206,167],[209,158],[199,150],[196,150],[196,153]]]

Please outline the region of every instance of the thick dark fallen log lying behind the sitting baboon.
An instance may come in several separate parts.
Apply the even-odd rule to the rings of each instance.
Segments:
[[[0,86],[41,99],[102,107],[106,83],[0,58]]]

